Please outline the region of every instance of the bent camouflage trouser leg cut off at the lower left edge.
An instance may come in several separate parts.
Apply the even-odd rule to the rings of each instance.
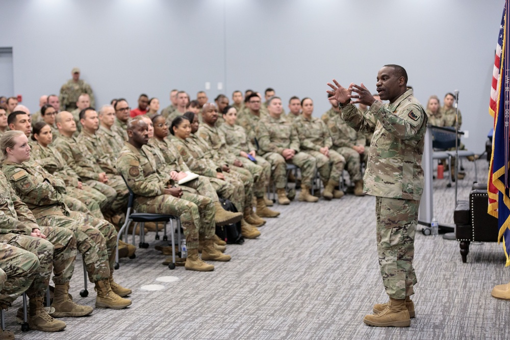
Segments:
[[[35,254],[0,242],[0,305],[10,305],[38,275],[39,259]]]

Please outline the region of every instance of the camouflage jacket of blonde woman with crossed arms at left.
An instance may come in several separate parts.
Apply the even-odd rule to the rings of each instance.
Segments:
[[[27,204],[36,218],[47,215],[69,215],[63,201],[64,181],[33,162],[17,164],[2,162],[5,173],[19,198]]]

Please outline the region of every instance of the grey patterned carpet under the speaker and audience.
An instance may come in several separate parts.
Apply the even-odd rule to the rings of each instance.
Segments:
[[[487,162],[477,161],[485,181]],[[465,199],[474,180],[473,163],[458,197]],[[453,223],[454,188],[434,181],[435,212]],[[148,249],[122,259],[116,280],[133,289],[124,310],[94,309],[89,317],[66,318],[59,333],[21,332],[15,310],[6,313],[7,329],[18,339],[508,339],[510,301],[491,297],[495,284],[508,282],[502,247],[472,244],[463,264],[458,242],[416,235],[418,276],[416,319],[409,328],[363,324],[372,305],[385,302],[375,245],[375,200],[348,195],[318,203],[294,201],[274,206],[281,217],[261,227],[262,236],[229,245],[228,263],[214,272],[169,270],[154,249],[161,241],[149,234]],[[421,229],[421,227],[419,227]],[[75,301],[94,306],[95,292],[81,298],[83,269],[77,261],[71,281]],[[173,276],[174,282],[158,281]],[[146,291],[148,284],[163,286]]]

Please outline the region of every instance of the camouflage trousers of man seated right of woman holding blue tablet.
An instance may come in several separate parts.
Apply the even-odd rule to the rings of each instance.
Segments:
[[[287,162],[281,154],[276,152],[267,152],[262,156],[271,164],[272,176],[276,189],[285,188],[285,184],[287,183],[287,163],[299,167],[302,176],[301,183],[305,186],[312,187],[316,165],[313,156],[304,152],[297,152],[294,157]]]

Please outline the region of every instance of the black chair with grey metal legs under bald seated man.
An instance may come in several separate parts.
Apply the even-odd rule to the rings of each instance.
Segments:
[[[181,234],[181,219],[179,216],[174,215],[166,215],[166,214],[150,214],[150,213],[132,213],[133,210],[133,201],[135,198],[135,194],[133,193],[133,190],[127,185],[127,181],[125,180],[124,176],[122,176],[122,179],[124,180],[127,190],[129,190],[129,201],[127,202],[127,211],[126,211],[126,217],[125,222],[120,228],[118,234],[117,234],[117,253],[115,254],[115,269],[118,269],[120,267],[119,265],[119,240],[123,232],[125,232],[125,237],[127,241],[127,227],[132,223],[140,223],[140,248],[148,248],[148,244],[144,242],[144,224],[145,222],[156,222],[156,226],[158,225],[158,222],[164,222],[165,223],[165,236],[166,236],[166,225],[171,225],[171,241],[172,241],[172,263],[168,265],[168,268],[175,269],[175,243],[174,243],[174,229],[173,229],[173,220],[177,221],[177,230],[179,230],[179,238]],[[157,229],[157,227],[156,227]],[[133,227],[133,230],[135,230],[135,227]],[[134,233],[134,231],[133,231]],[[133,237],[133,243],[135,242],[135,239]]]

